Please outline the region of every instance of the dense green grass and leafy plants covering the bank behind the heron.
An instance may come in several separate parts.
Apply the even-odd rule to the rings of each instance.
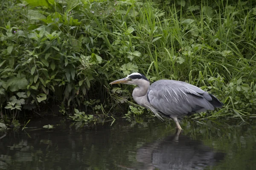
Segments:
[[[6,121],[49,105],[107,115],[114,103],[132,102],[133,87],[108,84],[131,72],[215,94],[225,107],[209,117],[255,112],[253,0],[2,0],[0,23]],[[142,112],[131,108],[126,116]]]

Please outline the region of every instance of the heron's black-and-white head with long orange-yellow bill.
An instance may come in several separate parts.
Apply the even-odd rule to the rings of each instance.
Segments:
[[[132,73],[127,77],[113,81],[110,84],[113,85],[113,84],[119,84],[119,83],[141,86],[141,85],[149,85],[149,80],[143,74]]]

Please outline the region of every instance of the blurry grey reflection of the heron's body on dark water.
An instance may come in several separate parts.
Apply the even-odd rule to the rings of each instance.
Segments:
[[[165,139],[145,144],[137,150],[140,170],[202,170],[224,159],[224,153],[214,152],[201,141],[172,134]]]

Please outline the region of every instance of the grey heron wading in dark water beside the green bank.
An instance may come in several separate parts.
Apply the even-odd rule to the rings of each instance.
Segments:
[[[150,81],[140,73],[132,73],[110,84],[137,85],[132,96],[138,105],[151,110],[159,119],[160,115],[171,118],[179,130],[180,119],[193,113],[213,111],[223,103],[212,94],[186,82],[161,79],[150,85]]]

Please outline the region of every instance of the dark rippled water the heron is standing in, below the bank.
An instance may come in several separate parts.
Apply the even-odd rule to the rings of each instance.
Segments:
[[[81,128],[63,118],[32,120],[0,139],[3,170],[254,170],[256,126],[239,122],[116,120]],[[44,125],[57,125],[53,130]],[[41,129],[38,129],[41,128]],[[1,135],[2,136],[2,135]]]

